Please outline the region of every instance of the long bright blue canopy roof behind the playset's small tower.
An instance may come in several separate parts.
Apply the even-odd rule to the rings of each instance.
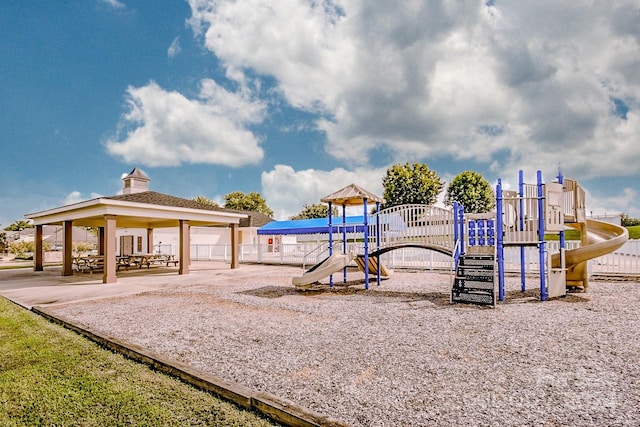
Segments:
[[[371,222],[371,219],[369,219]],[[334,233],[342,231],[343,218],[334,217],[331,220]],[[364,215],[346,217],[347,231],[353,232],[355,226],[357,232],[364,232]],[[273,221],[258,229],[258,234],[276,236],[282,234],[329,234],[329,218],[290,219],[285,221]]]

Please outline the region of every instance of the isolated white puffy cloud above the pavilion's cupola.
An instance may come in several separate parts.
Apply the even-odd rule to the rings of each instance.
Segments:
[[[128,163],[237,167],[255,164],[264,155],[248,127],[263,120],[265,106],[246,91],[229,92],[204,79],[199,97],[189,99],[151,82],[129,87],[127,102],[120,137],[107,139],[105,145],[109,154]]]

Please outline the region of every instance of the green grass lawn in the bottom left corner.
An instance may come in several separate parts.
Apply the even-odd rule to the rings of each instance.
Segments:
[[[268,426],[0,298],[2,426]]]

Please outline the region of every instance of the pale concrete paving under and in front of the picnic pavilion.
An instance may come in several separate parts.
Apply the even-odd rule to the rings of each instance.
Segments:
[[[0,295],[27,308],[50,306],[98,298],[134,295],[157,289],[206,283],[212,278],[233,278],[264,274],[266,271],[290,269],[292,276],[299,269],[280,266],[241,264],[232,270],[229,264],[216,261],[192,262],[187,275],[179,275],[177,268],[152,267],[118,272],[116,283],[102,283],[102,273],[77,273],[62,276],[61,267],[0,270]]]

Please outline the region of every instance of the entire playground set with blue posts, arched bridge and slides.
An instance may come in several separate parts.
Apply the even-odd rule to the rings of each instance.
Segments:
[[[325,261],[293,279],[296,286],[314,283],[346,268],[352,261],[364,272],[365,288],[369,274],[380,284],[388,271],[380,260],[386,252],[405,247],[424,248],[451,256],[451,302],[495,305],[505,299],[504,249],[520,248],[521,290],[527,287],[525,248],[538,249],[540,299],[566,295],[567,288],[589,285],[587,261],[615,251],[628,239],[624,227],[586,219],[585,192],[574,180],[561,173],[554,182],[524,182],[520,171],[518,191],[496,186],[496,211],[465,214],[462,206],[453,209],[427,205],[401,205],[380,211],[383,200],[358,186],[351,185],[322,199],[329,204],[329,256]],[[368,215],[368,203],[376,204],[376,214]],[[333,224],[334,204],[343,207],[363,205],[363,223]],[[579,231],[581,246],[565,249],[565,228]],[[556,234],[559,251],[549,253],[545,236]],[[341,239],[334,239],[335,236]],[[348,237],[354,244],[347,245]],[[356,245],[355,242],[362,242]],[[338,243],[338,244],[336,244]],[[348,250],[351,248],[351,251]],[[359,249],[354,250],[354,247]],[[356,253],[357,252],[357,253]],[[339,256],[338,256],[339,255]],[[497,290],[497,292],[496,292]]]

